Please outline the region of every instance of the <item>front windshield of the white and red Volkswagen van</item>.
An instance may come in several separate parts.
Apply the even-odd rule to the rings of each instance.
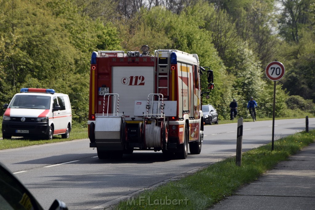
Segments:
[[[9,108],[49,109],[50,96],[15,95],[9,105]]]

